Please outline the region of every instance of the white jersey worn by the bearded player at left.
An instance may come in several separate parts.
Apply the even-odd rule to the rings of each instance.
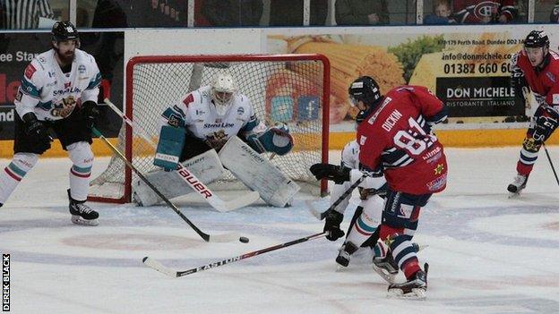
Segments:
[[[72,70],[64,73],[50,49],[36,56],[25,69],[15,97],[18,115],[33,112],[42,121],[56,121],[72,114],[88,100],[97,103],[101,74],[90,54],[75,49]]]

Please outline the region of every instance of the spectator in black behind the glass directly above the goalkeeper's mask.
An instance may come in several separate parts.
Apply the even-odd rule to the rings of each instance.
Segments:
[[[202,14],[213,26],[258,26],[262,0],[204,0]]]

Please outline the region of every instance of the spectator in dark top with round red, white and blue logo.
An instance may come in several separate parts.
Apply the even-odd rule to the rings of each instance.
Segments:
[[[453,4],[459,23],[508,23],[518,15],[514,0],[454,0]]]

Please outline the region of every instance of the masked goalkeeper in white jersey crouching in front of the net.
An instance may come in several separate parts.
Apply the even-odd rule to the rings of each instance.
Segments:
[[[212,149],[219,152],[234,136],[245,141],[257,153],[269,151],[285,155],[293,148],[293,138],[287,125],[268,128],[262,123],[254,114],[250,99],[237,92],[236,83],[228,72],[219,72],[211,85],[193,90],[169,106],[161,115],[159,126],[159,145],[154,164],[166,170],[174,170],[177,162],[186,160],[192,165],[194,157],[204,156]],[[173,161],[169,161],[171,159]],[[209,175],[205,170],[198,173],[187,167],[204,183],[219,179],[220,174]],[[233,172],[233,169],[229,170]],[[246,185],[253,185],[236,176]],[[162,184],[161,180],[167,178],[158,174],[149,174],[148,179],[155,183],[158,190],[161,187],[161,192],[168,198],[189,192],[182,188],[169,188],[169,185],[176,185],[174,182]],[[133,198],[140,205],[150,206],[160,200],[143,182],[137,181],[133,186]],[[273,206],[281,206],[266,199],[262,193],[261,197]]]

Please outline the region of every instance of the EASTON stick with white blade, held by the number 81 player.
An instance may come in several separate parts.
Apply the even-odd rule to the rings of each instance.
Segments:
[[[281,244],[274,245],[274,246],[271,246],[271,247],[268,247],[268,248],[265,248],[265,249],[262,249],[262,250],[254,250],[252,252],[248,252],[248,253],[245,253],[243,255],[236,256],[234,258],[222,259],[222,260],[219,260],[217,262],[213,262],[213,263],[210,263],[210,264],[203,265],[201,267],[195,267],[195,268],[188,269],[188,270],[180,270],[179,271],[179,270],[175,270],[175,269],[172,269],[172,268],[169,268],[169,267],[165,267],[165,266],[163,266],[163,264],[159,263],[159,261],[157,261],[155,259],[150,259],[147,256],[142,259],[142,262],[146,266],[151,267],[151,268],[153,268],[153,269],[155,269],[155,270],[157,270],[157,271],[159,271],[159,272],[161,272],[161,273],[163,273],[167,276],[182,277],[182,276],[186,276],[186,275],[190,275],[190,274],[193,274],[193,273],[200,272],[202,270],[208,270],[208,269],[211,269],[211,268],[214,268],[214,267],[219,267],[219,266],[223,266],[223,265],[226,265],[226,264],[229,264],[229,263],[233,263],[233,262],[239,261],[241,259],[253,258],[256,255],[267,253],[267,252],[272,251],[272,250],[280,250],[280,249],[283,249],[283,248],[287,248],[288,246],[291,246],[291,245],[295,245],[295,244],[302,243],[302,242],[307,242],[309,240],[318,239],[318,238],[321,238],[321,237],[325,236],[326,234],[327,233],[316,233],[316,234],[313,234],[313,235],[305,236],[303,238],[299,238],[297,240],[281,243]]]

